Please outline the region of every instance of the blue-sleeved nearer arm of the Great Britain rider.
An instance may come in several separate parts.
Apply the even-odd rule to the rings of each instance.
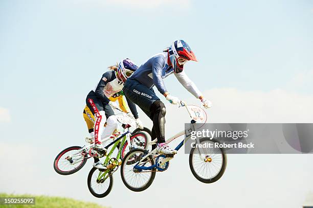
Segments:
[[[164,81],[162,78],[162,69],[165,66],[165,59],[163,57],[157,57],[152,63],[152,79],[153,84],[158,88],[159,92],[164,95],[167,93]]]

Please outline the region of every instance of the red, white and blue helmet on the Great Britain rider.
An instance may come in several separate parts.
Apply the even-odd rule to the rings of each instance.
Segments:
[[[184,40],[175,40],[169,47],[168,55],[175,73],[183,72],[184,63],[197,61],[194,53]]]

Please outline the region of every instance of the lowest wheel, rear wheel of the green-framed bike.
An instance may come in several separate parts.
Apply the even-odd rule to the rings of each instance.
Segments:
[[[99,173],[102,172],[97,168],[92,168],[88,174],[87,186],[92,195],[98,198],[107,196],[113,187],[113,175],[107,173],[104,178],[98,180]],[[109,174],[109,175],[108,175]]]

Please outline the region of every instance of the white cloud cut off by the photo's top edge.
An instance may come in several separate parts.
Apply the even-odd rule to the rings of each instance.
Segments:
[[[137,9],[152,9],[158,8],[161,6],[166,7],[176,7],[178,9],[188,8],[190,6],[190,0],[153,0],[153,1],[146,1],[146,0],[107,0],[105,1],[106,4],[110,5],[118,5],[123,7],[131,7]]]

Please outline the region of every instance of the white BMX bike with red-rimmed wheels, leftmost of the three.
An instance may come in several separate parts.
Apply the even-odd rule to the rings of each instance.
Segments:
[[[115,148],[118,147],[118,149],[121,150],[121,158],[126,155],[130,150],[130,147],[147,149],[151,138],[151,131],[144,127],[144,129],[137,128],[130,132],[129,128],[131,126],[136,126],[135,119],[124,112],[116,114],[116,117],[121,126],[119,128],[120,131],[101,140],[102,143],[113,141],[105,146],[105,148],[107,149],[112,144],[119,141]],[[122,141],[121,138],[123,138]],[[79,171],[86,164],[87,159],[92,157],[104,157],[106,152],[94,149],[93,140],[94,138],[87,137],[86,142],[89,144],[84,145],[83,147],[72,146],[62,150],[54,159],[54,170],[60,175],[71,175]]]

